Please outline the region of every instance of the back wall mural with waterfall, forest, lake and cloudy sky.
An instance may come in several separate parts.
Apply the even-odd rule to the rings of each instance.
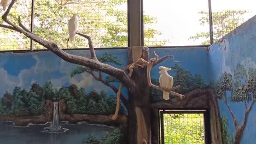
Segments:
[[[205,48],[154,49],[170,67],[177,92],[187,93],[209,85]],[[150,50],[153,55],[153,49]],[[87,50],[68,51],[89,57]],[[127,65],[127,50],[96,50],[99,61],[117,68]],[[153,57],[153,56],[150,56]],[[202,61],[203,59],[203,61]],[[159,85],[159,71],[152,79]],[[120,143],[127,110],[115,112],[117,79],[99,71],[63,61],[49,51],[0,55],[0,143]],[[162,93],[150,90],[152,102]],[[122,94],[128,98],[127,89]],[[59,121],[60,119],[60,121]],[[12,137],[13,139],[11,139]]]

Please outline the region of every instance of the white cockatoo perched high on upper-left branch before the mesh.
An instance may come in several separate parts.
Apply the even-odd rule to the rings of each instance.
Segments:
[[[77,32],[78,23],[79,23],[79,15],[74,14],[71,17],[71,19],[68,21],[69,41],[75,40],[75,32]]]

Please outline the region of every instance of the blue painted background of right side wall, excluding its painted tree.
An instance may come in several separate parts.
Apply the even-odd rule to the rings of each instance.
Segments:
[[[213,82],[220,81],[221,77],[230,74],[235,81],[237,72],[240,73],[241,87],[246,83],[249,70],[256,70],[256,16],[243,23],[240,27],[236,28],[231,33],[225,35],[217,43],[210,47],[210,76]],[[252,76],[252,75],[251,75]],[[235,85],[233,82],[232,85]],[[236,86],[233,86],[235,88]],[[217,90],[217,88],[216,88]],[[242,124],[245,118],[245,102],[231,101],[231,95],[235,94],[226,92],[228,104],[231,107],[234,116],[239,125]],[[252,93],[251,97],[252,97]],[[255,99],[255,98],[254,98]],[[230,111],[223,99],[219,99],[220,116],[224,116],[228,121],[228,131],[231,141],[235,137],[236,129]],[[252,99],[247,101],[247,106],[252,104]],[[255,143],[256,141],[256,105],[254,104],[251,112],[249,113],[246,128],[244,130],[241,143]]]

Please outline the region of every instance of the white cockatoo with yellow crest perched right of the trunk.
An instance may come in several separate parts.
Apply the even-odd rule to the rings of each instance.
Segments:
[[[166,67],[159,67],[159,83],[160,83],[160,87],[161,88],[172,88],[173,86],[173,77],[170,76],[167,71],[171,70],[171,68],[166,68]],[[168,100],[170,98],[170,93],[169,92],[163,92],[162,94],[162,98],[164,98],[165,100]]]

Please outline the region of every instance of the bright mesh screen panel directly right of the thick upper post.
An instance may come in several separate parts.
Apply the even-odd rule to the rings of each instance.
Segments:
[[[207,0],[197,0],[196,4],[188,0],[144,0],[144,45],[205,45],[204,41],[210,41],[210,25],[201,25],[201,11],[209,11]],[[206,37],[197,37],[198,34]]]

